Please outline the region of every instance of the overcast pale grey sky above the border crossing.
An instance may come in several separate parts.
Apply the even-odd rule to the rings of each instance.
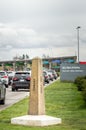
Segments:
[[[77,55],[86,61],[86,0],[0,0],[0,60]]]

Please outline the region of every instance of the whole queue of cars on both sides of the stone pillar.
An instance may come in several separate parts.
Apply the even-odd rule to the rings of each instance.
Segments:
[[[57,79],[55,70],[43,70],[44,84]],[[0,104],[5,103],[6,87],[12,91],[30,89],[31,71],[0,71]]]

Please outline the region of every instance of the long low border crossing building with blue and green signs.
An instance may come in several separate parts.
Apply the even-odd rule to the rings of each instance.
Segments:
[[[60,71],[61,63],[76,63],[77,56],[64,56],[64,57],[48,57],[42,58],[44,68],[52,68]],[[31,69],[32,59],[14,59],[7,61],[0,61],[0,70],[29,70]]]

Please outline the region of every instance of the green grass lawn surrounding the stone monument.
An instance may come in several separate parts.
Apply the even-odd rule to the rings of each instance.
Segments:
[[[73,83],[56,81],[45,88],[46,115],[62,119],[62,124],[46,127],[19,126],[11,118],[27,115],[28,98],[0,112],[0,130],[86,130],[86,106]]]

